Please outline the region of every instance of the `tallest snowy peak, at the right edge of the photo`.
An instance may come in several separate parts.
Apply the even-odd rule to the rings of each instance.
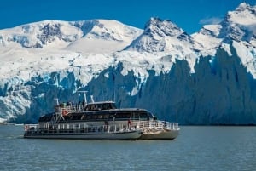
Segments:
[[[256,7],[241,3],[235,11],[228,12],[218,25],[203,26],[201,31],[192,37],[207,50],[215,49],[221,43],[231,41],[243,41],[256,47],[255,28]]]

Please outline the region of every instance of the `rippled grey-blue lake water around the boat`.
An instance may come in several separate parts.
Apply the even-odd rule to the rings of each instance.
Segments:
[[[0,126],[0,170],[255,170],[256,127],[181,127],[176,140],[33,140]]]

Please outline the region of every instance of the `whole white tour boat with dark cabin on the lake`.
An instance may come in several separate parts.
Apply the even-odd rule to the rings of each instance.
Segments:
[[[85,97],[85,95],[84,95]],[[85,99],[85,98],[84,98]],[[91,98],[92,99],[92,98]],[[173,140],[178,123],[160,121],[140,108],[117,108],[113,101],[55,105],[55,112],[25,125],[25,138],[85,140]]]

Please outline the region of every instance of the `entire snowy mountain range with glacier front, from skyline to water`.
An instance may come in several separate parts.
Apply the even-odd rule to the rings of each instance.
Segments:
[[[0,122],[36,123],[78,90],[181,124],[256,124],[255,6],[189,35],[151,18],[47,20],[0,31]]]

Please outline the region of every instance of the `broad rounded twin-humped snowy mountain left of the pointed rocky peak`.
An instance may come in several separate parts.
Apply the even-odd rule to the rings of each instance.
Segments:
[[[125,48],[141,32],[117,20],[44,20],[0,31],[0,46],[105,53]],[[98,44],[101,47],[97,47]]]

